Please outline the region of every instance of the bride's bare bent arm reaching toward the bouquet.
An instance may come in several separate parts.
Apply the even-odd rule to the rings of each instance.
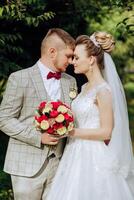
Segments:
[[[100,128],[75,128],[70,133],[72,137],[86,140],[108,140],[111,138],[114,120],[112,109],[112,96],[108,90],[100,91],[97,94],[97,105],[100,115]]]

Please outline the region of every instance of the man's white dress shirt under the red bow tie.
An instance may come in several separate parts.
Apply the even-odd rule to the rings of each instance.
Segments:
[[[40,60],[37,65],[40,69],[41,77],[43,79],[44,87],[46,88],[47,94],[50,96],[52,101],[57,101],[61,98],[61,85],[60,79],[55,78],[47,79],[48,73],[54,72],[50,68],[46,67]]]

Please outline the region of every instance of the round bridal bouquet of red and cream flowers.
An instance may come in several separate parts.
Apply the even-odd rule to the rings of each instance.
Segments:
[[[35,126],[42,133],[63,136],[74,128],[71,109],[61,101],[41,102],[35,115]]]

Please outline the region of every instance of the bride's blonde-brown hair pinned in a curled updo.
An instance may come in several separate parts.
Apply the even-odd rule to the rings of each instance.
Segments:
[[[115,41],[111,34],[106,32],[95,32],[92,36],[80,35],[76,38],[76,45],[84,45],[87,56],[96,56],[100,69],[104,68],[104,51],[110,53]]]

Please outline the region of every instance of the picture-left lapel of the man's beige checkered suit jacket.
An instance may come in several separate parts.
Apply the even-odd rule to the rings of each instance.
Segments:
[[[35,64],[30,70],[29,75],[33,81],[33,85],[36,89],[38,97],[41,101],[50,101],[50,97],[47,94],[47,91],[44,87],[44,83],[41,77],[41,73],[39,71],[38,65]]]

